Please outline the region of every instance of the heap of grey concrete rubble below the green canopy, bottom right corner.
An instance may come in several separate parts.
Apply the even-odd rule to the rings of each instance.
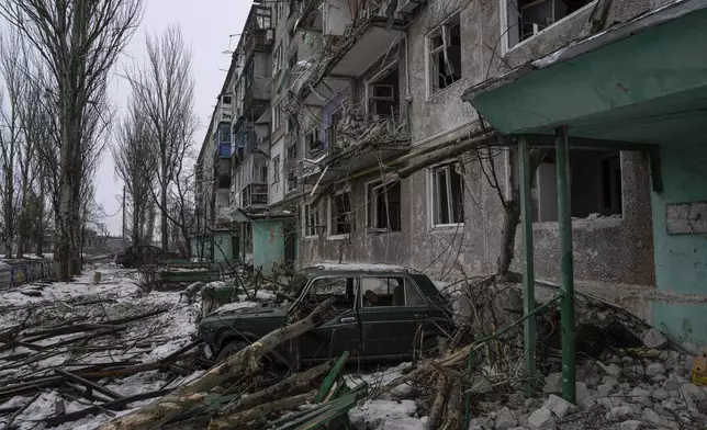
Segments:
[[[631,332],[646,331],[638,336],[641,344],[605,348],[594,358],[577,355],[576,405],[562,398],[561,369],[550,366],[539,397],[514,406],[501,400],[495,408],[483,403],[495,420],[475,414],[470,429],[707,429],[707,386],[694,384],[691,375],[696,351],[674,344],[659,330],[622,324]],[[520,393],[521,386],[516,388]]]

